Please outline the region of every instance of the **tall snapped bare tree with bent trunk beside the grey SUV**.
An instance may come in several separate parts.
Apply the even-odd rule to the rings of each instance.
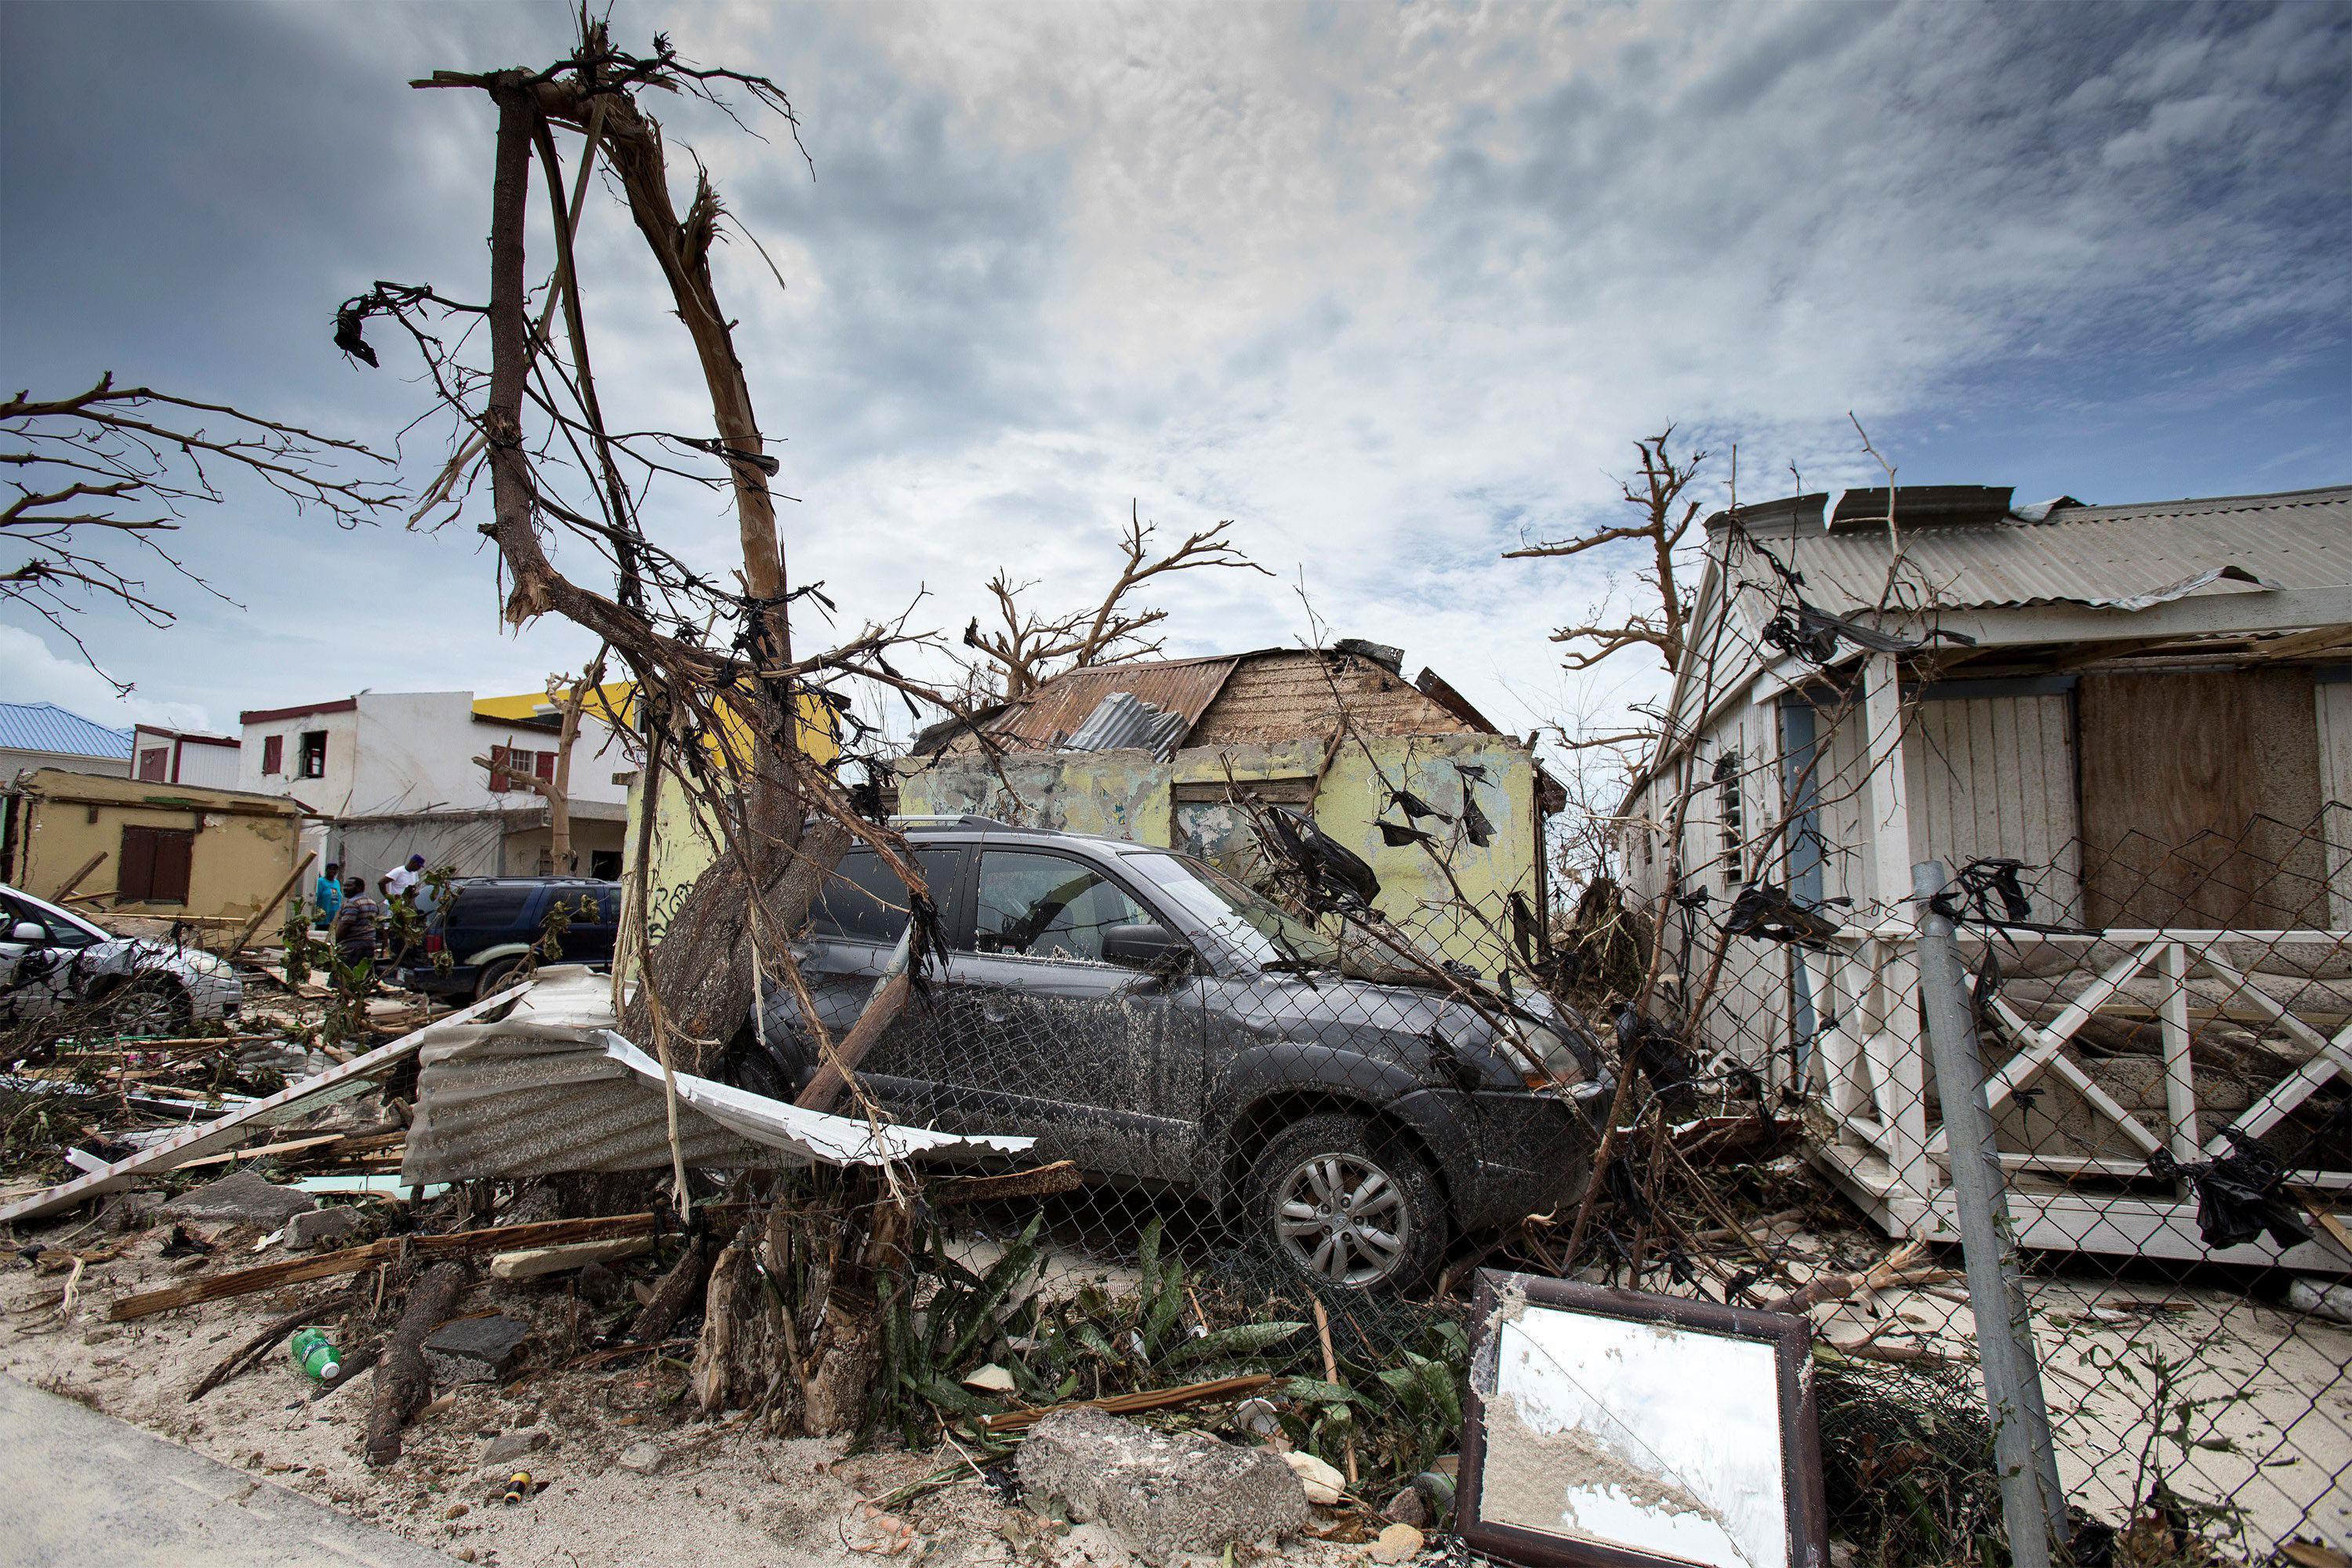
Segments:
[[[924,898],[903,842],[861,818],[835,771],[811,762],[804,743],[811,729],[854,724],[847,701],[830,693],[842,677],[880,682],[910,701],[938,701],[941,693],[889,663],[894,646],[915,642],[903,616],[870,623],[835,649],[797,654],[790,607],[818,590],[793,588],[788,578],[769,489],[779,463],[767,456],[734,346],[734,317],[713,280],[710,254],[731,216],[701,167],[680,216],[663,129],[640,94],[673,92],[724,108],[720,92],[731,87],[774,113],[795,139],[797,120],[783,89],[762,75],[694,66],[666,38],[654,40],[649,56],[635,56],[614,47],[597,21],[583,21],[579,47],[543,71],[437,71],[414,85],[482,92],[496,108],[489,299],[475,306],[433,287],[379,282],[341,308],[336,343],[372,364],[376,350],[367,343],[367,324],[388,317],[407,329],[442,402],[461,416],[449,465],[428,487],[428,505],[461,510],[487,473],[492,517],[482,531],[499,545],[503,618],[522,625],[546,614],[564,616],[628,665],[637,684],[633,719],[647,750],[649,806],[663,788],[684,790],[722,839],[724,853],[687,891],[659,945],[644,943],[649,856],[637,856],[630,926],[644,985],[623,1018],[623,1027],[654,1041],[663,1060],[677,1048],[691,1067],[710,1070],[762,990],[776,980],[802,990],[788,938],[821,877],[854,839],[875,846],[913,903]],[[569,190],[557,132],[581,141]],[[604,425],[574,275],[574,235],[597,158],[619,181],[687,331],[710,400],[710,437],[616,435]],[[555,237],[536,324],[527,308],[524,254],[534,160]],[[553,343],[557,308],[569,353]],[[456,334],[461,346],[442,336],[449,320],[487,324],[487,367],[461,357],[463,334]],[[715,461],[717,473],[687,468],[703,458]],[[633,480],[649,484],[656,477],[729,494],[741,552],[731,590],[644,536]],[[595,550],[612,569],[612,585],[560,567],[550,552],[555,536]],[[644,823],[652,820],[647,809]],[[644,842],[640,835],[640,846]],[[833,1041],[821,1037],[818,1046],[830,1058]]]

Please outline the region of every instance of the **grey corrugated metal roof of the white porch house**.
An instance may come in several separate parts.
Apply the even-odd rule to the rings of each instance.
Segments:
[[[1898,517],[1900,522],[1900,517]],[[1886,588],[1884,529],[1750,527],[1832,614]],[[2063,505],[2042,522],[1922,527],[1903,550],[1947,607],[2145,607],[2183,595],[2352,585],[2352,487],[2143,505]],[[1766,571],[1762,562],[1738,569]],[[2241,576],[2244,574],[2244,576]],[[2253,581],[2249,583],[2246,576]],[[1752,609],[1752,607],[1750,607]]]

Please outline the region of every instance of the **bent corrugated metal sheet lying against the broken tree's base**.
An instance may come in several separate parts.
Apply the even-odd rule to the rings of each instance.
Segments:
[[[567,964],[496,1025],[435,1025],[421,1051],[407,1182],[666,1171],[661,1063],[612,1032],[612,983]],[[1030,1138],[960,1138],[800,1110],[675,1074],[689,1166],[882,1164],[924,1154],[1018,1154]]]

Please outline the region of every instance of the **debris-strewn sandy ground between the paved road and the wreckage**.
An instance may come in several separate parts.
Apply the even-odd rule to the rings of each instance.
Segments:
[[[273,1354],[202,1401],[186,1399],[261,1324],[329,1295],[336,1281],[106,1324],[106,1305],[118,1295],[186,1279],[174,1260],[158,1258],[162,1237],[165,1229],[151,1229],[120,1260],[92,1267],[73,1316],[56,1309],[64,1276],[38,1276],[26,1265],[0,1272],[0,1368],[459,1561],[510,1568],[849,1568],[877,1561],[1124,1568],[1129,1561],[1101,1528],[1073,1530],[1002,1507],[976,1474],[877,1516],[863,1500],[953,1465],[957,1455],[844,1455],[835,1441],[764,1436],[743,1418],[706,1422],[684,1396],[682,1361],[534,1371],[506,1387],[459,1385],[454,1399],[409,1427],[400,1462],[376,1472],[360,1455],[369,1378],[310,1399],[313,1385]],[[103,1237],[59,1227],[42,1239],[89,1246]],[[282,1255],[252,1255],[249,1229],[216,1239],[228,1267]],[[485,1309],[529,1319],[543,1361],[569,1345],[572,1298],[560,1281],[503,1286],[485,1279],[466,1295],[463,1312]],[[543,1486],[527,1502],[503,1505],[501,1483],[513,1467],[485,1469],[477,1462],[482,1443],[501,1429],[534,1425],[550,1443],[520,1465]],[[633,1443],[661,1448],[656,1474],[616,1465]],[[1322,1528],[1341,1523],[1331,1514]],[[1242,1549],[1237,1561],[1355,1563],[1364,1561],[1364,1549],[1289,1542],[1279,1554]]]

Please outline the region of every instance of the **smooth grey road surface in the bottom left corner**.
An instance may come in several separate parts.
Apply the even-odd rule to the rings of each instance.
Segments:
[[[16,1568],[449,1568],[452,1559],[0,1375],[0,1561]]]

